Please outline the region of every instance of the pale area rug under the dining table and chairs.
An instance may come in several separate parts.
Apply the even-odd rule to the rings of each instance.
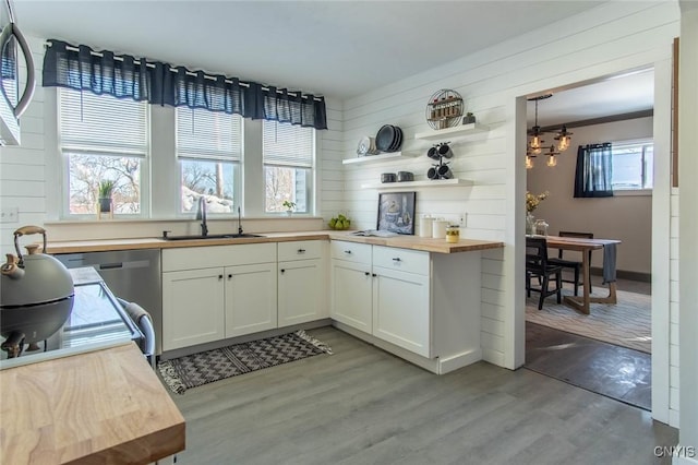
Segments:
[[[603,293],[607,295],[609,289],[599,287],[597,291],[594,286],[592,296]],[[563,295],[571,295],[571,290],[564,289]],[[538,295],[532,293],[526,299],[526,321],[650,354],[651,296],[618,290],[617,297],[617,303],[592,303],[590,314],[582,314],[557,303],[554,296],[538,310]]]

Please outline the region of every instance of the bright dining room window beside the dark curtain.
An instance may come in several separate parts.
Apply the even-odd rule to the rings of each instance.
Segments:
[[[652,189],[652,141],[613,143],[613,190]]]

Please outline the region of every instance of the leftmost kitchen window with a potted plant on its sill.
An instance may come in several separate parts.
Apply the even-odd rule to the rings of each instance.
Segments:
[[[116,183],[115,214],[144,214],[147,104],[61,88],[58,105],[64,214],[94,214],[99,182],[107,179]]]

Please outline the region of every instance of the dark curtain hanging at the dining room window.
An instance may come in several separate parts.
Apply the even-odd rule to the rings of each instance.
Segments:
[[[611,143],[580,145],[577,148],[575,198],[613,196]]]

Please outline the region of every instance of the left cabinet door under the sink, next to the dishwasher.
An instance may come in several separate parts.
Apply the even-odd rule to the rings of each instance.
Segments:
[[[224,338],[222,272],[163,273],[163,350]]]

